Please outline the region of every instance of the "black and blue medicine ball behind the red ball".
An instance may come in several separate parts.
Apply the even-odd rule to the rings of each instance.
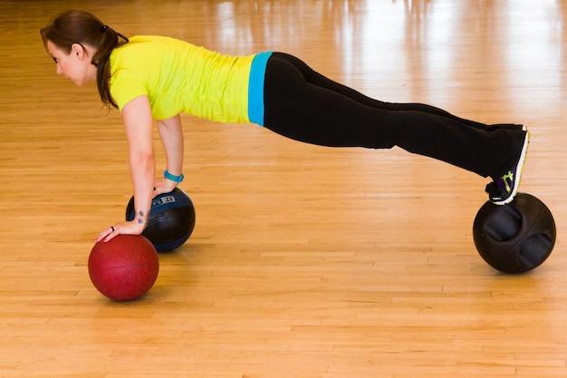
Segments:
[[[136,216],[134,198],[126,207],[126,220]],[[179,188],[157,196],[151,202],[148,226],[142,233],[158,252],[172,251],[180,247],[195,228],[195,207],[187,193]]]

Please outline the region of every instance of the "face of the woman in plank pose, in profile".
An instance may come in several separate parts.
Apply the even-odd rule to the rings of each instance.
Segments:
[[[66,53],[51,41],[47,41],[47,50],[57,64],[57,74],[71,79],[76,85],[96,79],[97,68],[91,63],[91,52],[82,44],[72,44],[71,52]]]

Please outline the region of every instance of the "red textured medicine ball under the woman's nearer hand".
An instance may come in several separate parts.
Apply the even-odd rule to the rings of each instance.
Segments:
[[[146,294],[156,282],[159,257],[146,237],[119,235],[95,244],[88,266],[92,285],[102,295],[130,301]]]

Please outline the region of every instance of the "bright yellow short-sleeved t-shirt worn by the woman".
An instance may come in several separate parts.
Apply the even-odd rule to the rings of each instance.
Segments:
[[[249,122],[254,57],[222,55],[174,38],[135,36],[111,53],[111,95],[120,111],[148,95],[156,120],[186,112],[212,121]]]

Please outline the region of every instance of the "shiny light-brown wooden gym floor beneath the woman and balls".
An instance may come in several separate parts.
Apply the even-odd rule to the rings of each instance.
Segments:
[[[553,211],[552,256],[520,276],[485,264],[472,173],[184,116],[197,227],[146,296],[111,302],[87,258],[130,199],[126,141],[43,50],[39,29],[70,8],[527,124],[522,191]],[[566,0],[0,1],[0,376],[567,377],[566,43]]]

